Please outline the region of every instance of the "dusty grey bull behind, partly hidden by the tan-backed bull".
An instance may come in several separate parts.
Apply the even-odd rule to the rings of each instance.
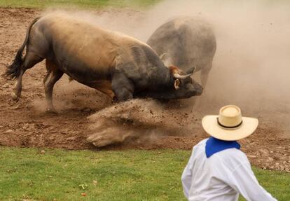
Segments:
[[[198,17],[182,16],[161,25],[150,36],[147,44],[165,60],[186,71],[193,64],[201,71],[205,87],[216,52],[216,38],[212,26]]]

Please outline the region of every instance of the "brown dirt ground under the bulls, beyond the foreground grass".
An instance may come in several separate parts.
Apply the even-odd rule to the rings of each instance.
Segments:
[[[0,74],[10,64],[25,38],[29,22],[41,11],[27,8],[0,8]],[[91,134],[88,116],[111,106],[111,100],[93,89],[76,82],[69,83],[67,76],[55,85],[54,100],[59,113],[46,113],[43,78],[46,75],[44,62],[26,72],[23,78],[22,97],[19,102],[11,99],[14,81],[0,78],[0,145],[20,147],[46,147],[91,150],[125,150],[128,148],[155,149],[178,148],[190,150],[198,141],[207,137],[200,125],[206,113],[217,112],[221,104],[209,102],[206,95],[196,99],[198,104],[188,107],[176,106],[172,111],[177,122],[186,118],[191,130],[150,134],[150,138],[131,137],[121,144],[95,148],[86,139]],[[188,108],[190,111],[188,112]],[[170,111],[170,110],[169,110]],[[179,112],[177,112],[179,111]],[[153,111],[154,112],[154,111]],[[189,113],[189,114],[188,114]],[[252,111],[250,113],[255,113]],[[264,112],[264,114],[267,111]],[[285,110],[268,116],[289,116]],[[174,118],[174,116],[172,117]],[[166,120],[166,118],[165,118]],[[289,131],[259,118],[260,125],[255,134],[241,141],[242,150],[247,153],[253,165],[264,169],[279,169],[290,172]],[[180,125],[182,127],[182,123]],[[179,127],[177,127],[177,130]],[[144,132],[144,135],[146,132]],[[153,137],[152,137],[153,136]]]

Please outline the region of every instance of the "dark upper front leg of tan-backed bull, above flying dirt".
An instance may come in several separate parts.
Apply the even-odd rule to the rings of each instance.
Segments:
[[[112,89],[119,102],[133,98],[134,85],[125,75],[118,73],[112,77]]]

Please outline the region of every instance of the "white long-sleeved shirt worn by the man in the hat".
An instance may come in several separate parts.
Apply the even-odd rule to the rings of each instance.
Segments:
[[[181,176],[188,200],[237,201],[239,194],[252,201],[276,200],[259,185],[247,155],[237,148],[228,148],[207,158],[206,141],[193,147]]]

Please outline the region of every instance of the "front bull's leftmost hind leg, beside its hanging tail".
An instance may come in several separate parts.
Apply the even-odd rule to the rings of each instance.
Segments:
[[[18,76],[13,93],[12,93],[12,98],[15,101],[18,101],[20,99],[21,91],[22,91],[22,76],[25,73],[27,69],[30,69],[34,67],[35,64],[41,62],[43,60],[42,57],[39,57],[38,55],[32,53],[32,52],[27,52],[25,55],[25,59],[23,64],[20,67],[20,75]]]

